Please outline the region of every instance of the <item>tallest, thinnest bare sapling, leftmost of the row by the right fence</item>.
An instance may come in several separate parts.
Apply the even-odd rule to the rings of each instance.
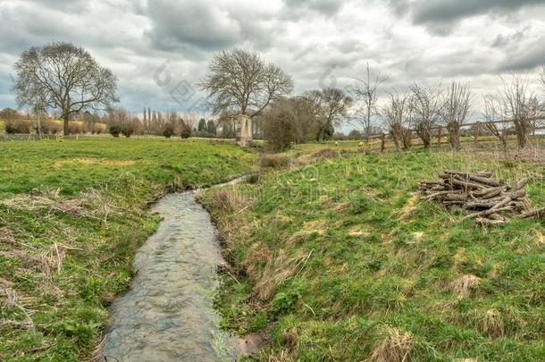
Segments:
[[[380,73],[372,79],[369,63],[367,63],[366,71],[364,79],[356,78],[358,84],[353,89],[353,92],[356,96],[356,101],[361,101],[362,103],[362,107],[356,110],[356,123],[363,130],[365,142],[368,142],[369,136],[371,136],[371,119],[374,115],[378,114],[377,90],[386,79],[381,77]]]

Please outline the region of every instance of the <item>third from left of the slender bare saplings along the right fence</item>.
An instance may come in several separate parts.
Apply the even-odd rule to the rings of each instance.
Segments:
[[[440,120],[440,85],[429,87],[414,83],[410,89],[415,130],[423,147],[428,148],[432,145],[432,128]]]

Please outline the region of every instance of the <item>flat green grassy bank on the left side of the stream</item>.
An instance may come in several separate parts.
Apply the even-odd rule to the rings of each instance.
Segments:
[[[254,161],[238,147],[180,139],[0,143],[0,359],[90,357],[157,226],[147,205]]]

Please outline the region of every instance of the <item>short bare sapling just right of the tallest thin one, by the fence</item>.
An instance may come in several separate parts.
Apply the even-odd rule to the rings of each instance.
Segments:
[[[388,125],[396,149],[399,151],[401,147],[403,149],[410,147],[406,135],[410,129],[411,121],[409,96],[399,96],[396,91],[390,93],[389,103],[381,108],[381,116]],[[410,135],[408,135],[408,139],[410,139]]]

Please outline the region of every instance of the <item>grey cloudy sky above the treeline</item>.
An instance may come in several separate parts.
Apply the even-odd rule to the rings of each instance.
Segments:
[[[0,108],[21,51],[53,40],[111,68],[135,113],[199,110],[208,60],[236,46],[289,72],[296,93],[348,88],[369,63],[384,92],[462,80],[481,97],[501,73],[537,86],[545,0],[0,0],[0,34]]]

